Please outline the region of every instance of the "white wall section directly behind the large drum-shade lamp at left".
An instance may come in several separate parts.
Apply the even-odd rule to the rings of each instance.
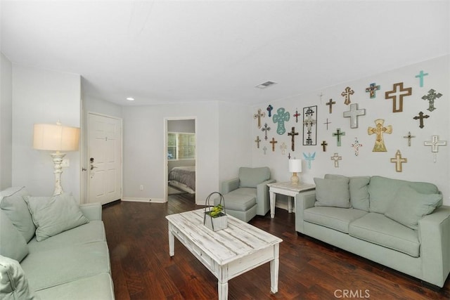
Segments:
[[[34,150],[34,123],[80,126],[81,83],[78,74],[13,64],[13,185],[25,185],[32,195],[53,195],[53,162],[47,151]],[[68,152],[63,168],[65,192],[79,199],[80,152]]]

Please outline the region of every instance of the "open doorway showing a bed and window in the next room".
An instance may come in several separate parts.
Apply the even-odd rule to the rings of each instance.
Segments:
[[[165,201],[169,196],[190,194],[195,198],[197,143],[195,117],[165,119]]]

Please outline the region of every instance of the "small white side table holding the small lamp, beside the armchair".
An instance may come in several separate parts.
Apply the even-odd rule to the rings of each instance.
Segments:
[[[269,186],[269,195],[270,195],[270,216],[274,218],[275,216],[275,194],[281,194],[288,196],[288,211],[290,213],[293,212],[293,197],[300,192],[305,190],[312,190],[316,188],[314,183],[298,183],[292,184],[290,181],[288,182],[276,182],[276,183],[268,183]]]

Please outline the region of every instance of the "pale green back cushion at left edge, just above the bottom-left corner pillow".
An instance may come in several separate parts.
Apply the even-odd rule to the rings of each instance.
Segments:
[[[11,220],[0,209],[0,254],[16,261],[28,254],[27,242],[23,235],[13,226]]]

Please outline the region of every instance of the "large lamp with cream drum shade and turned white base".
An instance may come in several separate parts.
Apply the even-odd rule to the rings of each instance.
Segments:
[[[37,150],[56,151],[50,154],[53,158],[55,174],[55,191],[53,196],[63,193],[61,186],[61,163],[65,153],[60,151],[77,151],[79,144],[79,128],[56,124],[34,124],[33,148]]]

